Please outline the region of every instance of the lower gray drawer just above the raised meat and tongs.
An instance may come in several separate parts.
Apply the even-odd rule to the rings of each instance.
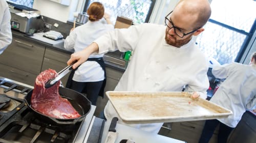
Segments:
[[[42,64],[42,71],[47,70],[47,69],[53,69],[56,72],[61,71],[62,69],[64,69],[65,67],[67,67],[68,65],[66,63],[61,63],[49,58],[44,58],[44,62]],[[65,75],[64,77],[61,78],[61,82],[64,85],[64,87],[66,86],[66,83],[68,81],[69,78],[69,74]]]

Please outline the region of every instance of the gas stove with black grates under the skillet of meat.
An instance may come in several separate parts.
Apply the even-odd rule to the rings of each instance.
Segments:
[[[95,117],[95,106],[82,122],[69,126],[46,124],[34,116],[23,98],[33,87],[0,77],[0,97],[9,98],[0,109],[0,142],[87,142]],[[0,102],[0,104],[7,104]]]

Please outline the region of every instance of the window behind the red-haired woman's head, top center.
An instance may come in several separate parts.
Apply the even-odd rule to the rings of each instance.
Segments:
[[[112,21],[116,21],[117,16],[124,16],[140,24],[148,22],[156,0],[87,0],[83,12],[86,12],[93,2],[102,3],[105,11],[111,14]]]

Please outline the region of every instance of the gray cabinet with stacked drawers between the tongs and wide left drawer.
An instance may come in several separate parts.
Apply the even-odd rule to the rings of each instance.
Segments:
[[[67,62],[69,59],[70,54],[46,47],[44,62],[42,63],[41,71],[53,69],[56,72],[59,72],[68,66]],[[69,74],[70,73],[61,78],[61,82],[63,83],[64,87],[67,84]]]

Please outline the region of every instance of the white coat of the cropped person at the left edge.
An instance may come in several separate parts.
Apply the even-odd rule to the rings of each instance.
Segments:
[[[6,1],[0,1],[0,54],[12,42],[11,13]]]

